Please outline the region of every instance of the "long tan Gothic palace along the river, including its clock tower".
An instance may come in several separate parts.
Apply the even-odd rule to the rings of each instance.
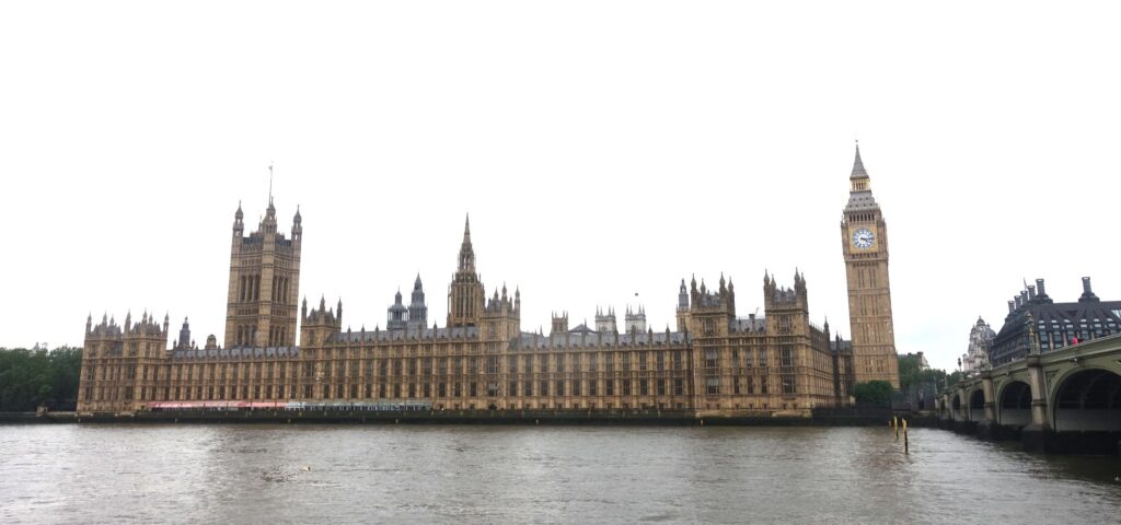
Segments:
[[[628,309],[548,335],[521,330],[521,294],[488,297],[475,269],[470,223],[448,287],[444,326],[429,324],[420,278],[400,292],[385,329],[343,329],[340,301],[298,301],[303,218],[278,228],[271,199],[245,235],[241,207],[231,235],[225,340],[192,343],[184,320],[147,313],[123,325],[86,321],[78,411],[150,410],[166,402],[423,402],[433,410],[666,409],[702,415],[805,415],[851,402],[855,383],[899,386],[888,232],[860,149],[841,222],[852,340],[809,321],[807,284],[763,275],[763,316],[738,317],[735,287],[680,282],[676,330],[647,327]],[[298,321],[298,324],[297,324]],[[297,332],[298,330],[298,332]],[[298,339],[297,339],[298,336]]]

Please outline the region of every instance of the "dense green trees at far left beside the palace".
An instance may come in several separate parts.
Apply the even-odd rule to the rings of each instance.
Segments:
[[[81,348],[0,348],[0,412],[74,410],[81,368]]]

